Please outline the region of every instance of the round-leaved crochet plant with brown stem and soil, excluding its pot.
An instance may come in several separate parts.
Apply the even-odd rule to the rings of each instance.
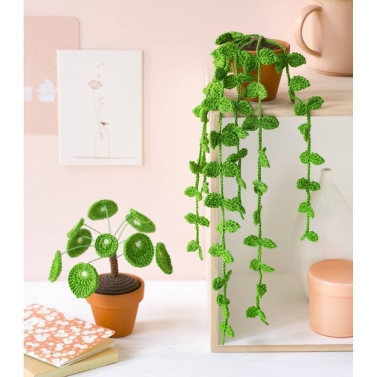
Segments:
[[[155,232],[155,224],[148,217],[131,209],[116,232],[112,234],[110,217],[115,215],[117,211],[117,204],[108,199],[99,200],[91,205],[88,211],[89,219],[107,219],[109,232],[101,234],[81,218],[67,233],[68,241],[65,252],[61,253],[58,250],[55,253],[50,269],[50,281],[56,281],[61,273],[62,254],[67,253],[69,257],[76,258],[90,247],[94,248],[99,258],[74,265],[68,276],[69,286],[78,298],[89,297],[93,292],[103,295],[121,295],[138,289],[139,283],[134,278],[119,273],[118,258],[121,256],[124,256],[125,260],[135,267],[148,266],[155,257],[156,263],[163,273],[173,273],[172,262],[165,245],[158,242],[154,247],[149,236],[145,234]],[[138,233],[120,241],[123,231],[128,225],[134,227]],[[98,236],[92,236],[91,231]],[[120,244],[123,244],[123,253],[116,255]],[[92,262],[102,258],[109,258],[111,273],[99,276],[97,270],[92,266]]]

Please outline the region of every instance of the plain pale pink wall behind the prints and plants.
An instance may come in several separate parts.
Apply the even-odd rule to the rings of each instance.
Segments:
[[[203,279],[205,264],[185,251],[194,229],[183,216],[194,203],[183,190],[193,182],[187,163],[196,156],[200,132],[191,109],[202,99],[214,39],[228,30],[257,32],[288,40],[297,51],[291,29],[304,4],[239,0],[229,7],[225,0],[26,0],[25,15],[77,17],[82,49],[143,50],[144,165],[58,166],[57,136],[26,135],[25,279],[48,277],[55,250],[65,247],[66,232],[102,198],[118,202],[118,220],[129,207],[155,220],[153,240],[165,242],[174,264],[169,279]],[[83,261],[92,255],[84,255]],[[64,259],[64,277],[74,263]],[[107,261],[95,263],[106,271]],[[164,278],[154,265],[142,271],[126,267],[125,261],[120,265],[143,278]]]

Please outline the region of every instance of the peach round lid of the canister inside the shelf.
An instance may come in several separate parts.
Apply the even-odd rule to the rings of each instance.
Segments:
[[[353,263],[343,259],[329,259],[313,264],[308,270],[309,289],[323,295],[351,297]]]

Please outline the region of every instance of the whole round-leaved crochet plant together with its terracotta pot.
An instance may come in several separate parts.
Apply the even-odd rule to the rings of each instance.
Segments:
[[[54,282],[58,279],[63,254],[76,258],[88,249],[94,248],[98,258],[74,265],[69,272],[68,283],[77,298],[86,298],[91,304],[96,323],[115,330],[115,337],[122,337],[130,334],[134,328],[138,305],[144,294],[144,282],[137,276],[119,273],[118,258],[124,256],[132,266],[146,267],[155,257],[157,265],[165,274],[172,274],[173,266],[165,245],[158,242],[154,246],[146,235],[155,232],[155,224],[139,212],[131,209],[112,234],[110,217],[117,211],[117,204],[108,199],[99,200],[91,205],[88,218],[107,219],[109,232],[100,233],[81,218],[67,234],[65,252],[61,253],[57,250],[55,253],[49,280]],[[138,233],[120,240],[128,225],[135,228]],[[117,255],[121,244],[123,244],[123,253]],[[102,258],[109,258],[111,272],[98,275],[92,263]]]

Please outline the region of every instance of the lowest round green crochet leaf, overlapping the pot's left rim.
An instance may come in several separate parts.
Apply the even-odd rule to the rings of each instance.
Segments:
[[[68,284],[77,298],[87,298],[98,288],[97,270],[89,263],[78,263],[69,271]]]

